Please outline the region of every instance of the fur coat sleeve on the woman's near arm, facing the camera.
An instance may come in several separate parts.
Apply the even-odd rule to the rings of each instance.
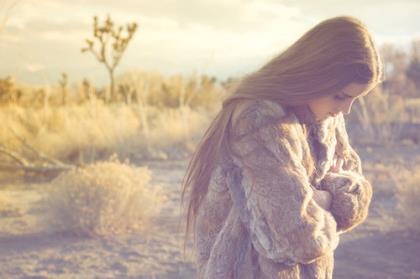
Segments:
[[[230,146],[242,172],[236,186],[244,193],[245,223],[260,255],[286,265],[308,264],[336,249],[337,224],[313,199],[299,156],[298,124],[267,124],[265,119],[258,112],[245,113],[232,126]]]

